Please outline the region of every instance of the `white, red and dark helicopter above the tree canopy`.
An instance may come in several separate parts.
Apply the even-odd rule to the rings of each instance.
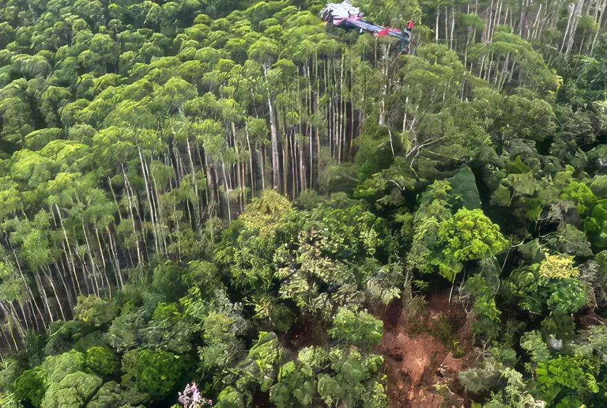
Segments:
[[[352,6],[351,0],[341,3],[328,3],[320,12],[319,17],[327,23],[327,29],[333,27],[344,30],[357,30],[360,34],[370,32],[375,37],[395,37],[401,40],[401,50],[405,50],[411,41],[411,30],[413,21],[410,20],[405,30],[397,28],[382,27],[364,19],[364,13],[359,8]]]

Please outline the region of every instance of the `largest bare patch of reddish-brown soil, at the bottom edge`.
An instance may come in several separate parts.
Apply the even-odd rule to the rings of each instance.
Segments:
[[[473,317],[466,314],[457,300],[452,299],[449,303],[448,299],[448,291],[431,294],[427,298],[428,307],[417,316],[406,313],[400,301],[378,313],[384,320],[384,338],[377,352],[384,356],[392,408],[466,406],[464,398],[458,395],[461,387],[457,383],[457,373],[470,363]],[[430,333],[432,322],[443,314],[455,328],[454,337],[464,351],[463,358],[455,358]],[[437,392],[437,386],[444,386],[447,405],[444,405],[445,398]]]

